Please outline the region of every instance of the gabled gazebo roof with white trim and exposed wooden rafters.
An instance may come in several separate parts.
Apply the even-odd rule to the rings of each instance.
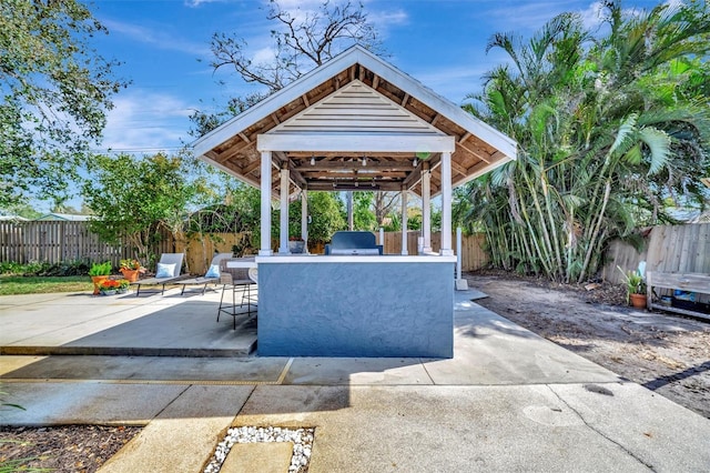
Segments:
[[[440,152],[460,185],[516,159],[516,142],[355,46],[193,143],[195,154],[260,187],[261,151],[291,189],[440,192]],[[427,164],[425,164],[427,163]],[[272,173],[272,190],[280,179]]]

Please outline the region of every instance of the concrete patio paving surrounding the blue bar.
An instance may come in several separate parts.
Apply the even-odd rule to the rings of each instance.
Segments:
[[[3,391],[27,409],[0,424],[145,425],[106,472],[197,471],[230,425],[315,426],[311,472],[710,466],[709,420],[480,308],[475,291],[456,293],[452,360],[234,356],[219,294],[178,293],[0,298]],[[135,351],[7,354],[42,346]]]

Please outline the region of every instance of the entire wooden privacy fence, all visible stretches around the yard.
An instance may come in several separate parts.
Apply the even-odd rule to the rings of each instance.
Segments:
[[[375,232],[377,240],[379,233]],[[418,231],[407,232],[407,252],[417,254]],[[240,234],[217,233],[192,239],[187,243],[175,244],[169,234],[160,243],[159,253],[184,251],[190,272],[204,274],[215,252],[231,252],[232,246],[241,241]],[[484,251],[483,233],[464,235],[462,248],[462,269],[474,271],[485,268],[488,254]],[[440,234],[432,234],[432,246],[436,252],[440,248]],[[452,242],[456,245],[455,236]],[[646,261],[647,270],[665,272],[698,272],[710,274],[710,223],[687,225],[653,227],[646,236],[646,248],[639,253],[632,246],[615,241],[608,252],[608,263],[601,271],[601,278],[618,283],[621,273],[636,269],[640,261]],[[312,253],[323,253],[323,245],[311,245]],[[399,254],[402,252],[402,233],[385,232],[384,252]],[[129,244],[112,246],[102,242],[89,231],[88,222],[0,222],[0,262],[31,261],[60,263],[75,260],[92,262],[111,261],[115,266],[119,260],[133,258]]]

